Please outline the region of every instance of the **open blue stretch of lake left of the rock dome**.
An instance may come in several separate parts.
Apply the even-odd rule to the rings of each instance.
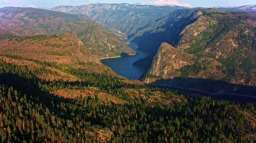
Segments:
[[[126,40],[124,40],[126,41]],[[108,58],[108,59],[101,59],[101,62],[111,68],[117,75],[121,75],[126,77],[127,79],[131,80],[138,80],[139,77],[144,73],[144,70],[135,67],[132,64],[149,54],[143,51],[137,50],[138,45],[134,42],[129,42],[129,47],[137,52],[135,56],[122,56],[117,58]]]

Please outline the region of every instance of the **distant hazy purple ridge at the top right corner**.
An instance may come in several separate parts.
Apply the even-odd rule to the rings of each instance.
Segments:
[[[217,7],[217,9],[221,11],[256,13],[256,5],[239,6],[239,7]]]

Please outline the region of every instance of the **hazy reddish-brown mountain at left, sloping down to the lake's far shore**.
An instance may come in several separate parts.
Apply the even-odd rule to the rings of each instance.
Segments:
[[[94,20],[36,8],[0,8],[0,27],[19,36],[75,34],[99,58],[136,54],[128,45]]]

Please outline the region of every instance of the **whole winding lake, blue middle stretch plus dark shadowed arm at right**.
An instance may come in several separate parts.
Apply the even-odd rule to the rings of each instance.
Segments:
[[[139,77],[144,73],[144,70],[141,68],[135,67],[132,64],[138,59],[144,58],[150,54],[137,50],[138,45],[134,42],[129,42],[128,46],[131,47],[133,50],[135,50],[137,52],[137,55],[101,59],[101,62],[104,65],[110,67],[117,75],[124,76],[129,80],[131,79],[138,80]],[[229,100],[229,101],[235,101],[235,102],[241,102],[241,103],[250,102],[250,103],[256,104],[256,98],[253,98],[253,97],[243,97],[243,96],[236,96],[236,95],[229,95],[229,94],[211,95],[209,93],[205,93],[201,91],[182,89],[178,87],[153,86],[153,85],[150,85],[150,87],[167,88],[167,89],[178,90],[178,91],[190,93],[190,94],[205,95],[205,96],[210,96],[212,99],[218,99],[218,100]]]

